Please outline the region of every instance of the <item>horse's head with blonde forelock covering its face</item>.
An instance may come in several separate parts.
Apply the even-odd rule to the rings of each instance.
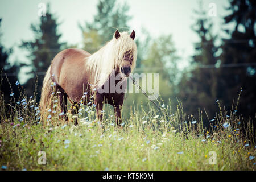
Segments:
[[[135,31],[133,30],[129,35],[127,32],[119,33],[117,30],[115,31],[114,38],[118,48],[117,71],[122,73],[123,77],[128,77],[136,65]]]

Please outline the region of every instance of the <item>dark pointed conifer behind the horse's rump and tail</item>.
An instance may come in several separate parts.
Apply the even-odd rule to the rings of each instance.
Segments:
[[[26,82],[24,88],[28,94],[32,95],[35,86],[35,76],[38,77],[38,97],[43,84],[44,72],[47,71],[53,57],[60,51],[65,43],[60,43],[61,34],[57,32],[56,18],[51,14],[49,4],[47,5],[46,16],[40,17],[39,24],[31,24],[31,30],[35,34],[35,39],[23,41],[20,47],[28,49],[31,53],[27,57],[31,59],[31,78]]]

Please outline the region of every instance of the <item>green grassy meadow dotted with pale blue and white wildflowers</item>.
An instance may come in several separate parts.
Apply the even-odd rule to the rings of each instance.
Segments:
[[[220,110],[204,129],[202,121],[185,119],[181,106],[172,113],[162,105],[164,114],[138,106],[118,127],[112,111],[100,123],[94,107],[83,106],[73,126],[59,119],[55,106],[40,123],[33,97],[11,103],[4,111],[1,99],[1,170],[255,170],[255,130],[242,134],[236,111]]]

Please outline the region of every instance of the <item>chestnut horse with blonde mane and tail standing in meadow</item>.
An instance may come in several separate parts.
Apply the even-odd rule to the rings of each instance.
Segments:
[[[126,89],[127,78],[136,65],[137,46],[134,38],[134,30],[131,34],[116,30],[112,40],[93,54],[76,48],[64,49],[57,53],[43,80],[39,103],[40,120],[44,122],[46,119],[47,109],[52,105],[54,89],[58,93],[57,100],[62,113],[60,115],[65,121],[68,121],[69,99],[73,108],[72,115],[78,113],[80,104],[93,103],[96,107],[96,117],[100,121],[104,113],[103,105],[112,105],[115,122],[120,125],[125,93],[115,89],[113,92],[113,84],[110,82],[113,75],[119,75],[119,80],[114,79],[114,86],[122,84],[121,89]],[[102,89],[105,89],[105,92],[102,92]],[[77,119],[74,124],[77,125]]]

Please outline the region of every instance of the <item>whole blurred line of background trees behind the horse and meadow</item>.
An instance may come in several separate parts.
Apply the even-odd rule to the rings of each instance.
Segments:
[[[200,41],[195,43],[195,54],[189,67],[182,71],[177,68],[180,58],[176,54],[172,35],[153,39],[146,30],[142,30],[143,37],[135,39],[138,48],[135,72],[160,73],[159,93],[163,102],[167,105],[170,100],[173,110],[178,103],[182,103],[183,111],[188,117],[192,114],[198,119],[199,110],[202,110],[201,117],[204,121],[213,119],[220,103],[222,109],[228,113],[231,111],[255,120],[256,3],[253,0],[232,0],[227,9],[230,14],[223,17],[224,24],[220,31],[225,32],[228,39],[213,35],[213,23],[202,7],[195,11],[197,18],[191,28],[199,36]],[[84,38],[82,48],[90,53],[100,49],[112,38],[115,31],[113,27],[120,31],[129,31],[128,24],[132,17],[128,12],[129,6],[126,3],[117,4],[115,0],[99,1],[97,14],[94,15],[92,22],[79,24]],[[229,24],[233,24],[234,28],[225,29],[230,27]],[[9,82],[12,88],[16,89],[14,85],[18,80],[20,68],[29,67],[31,72],[27,74],[31,77],[23,88],[26,89],[28,96],[34,94],[36,89],[38,101],[43,73],[46,72],[53,57],[61,49],[77,47],[60,42],[58,26],[59,23],[48,5],[46,16],[40,17],[39,24],[31,24],[34,40],[23,40],[20,45],[20,48],[30,51],[30,64],[20,64],[17,60],[14,65],[10,65],[8,56],[11,49],[3,48],[0,42],[2,78],[5,77],[4,73],[10,73]],[[222,40],[220,46],[216,46],[217,39]],[[9,82],[2,79],[1,92],[5,94],[6,101],[10,100],[10,93],[18,92],[10,89]],[[236,106],[241,88],[240,104],[237,109],[232,109],[232,105]],[[125,117],[129,117],[129,109],[133,102],[135,105],[146,103],[146,98],[142,94],[130,94],[127,97],[129,99],[126,98],[126,109],[123,111]]]

